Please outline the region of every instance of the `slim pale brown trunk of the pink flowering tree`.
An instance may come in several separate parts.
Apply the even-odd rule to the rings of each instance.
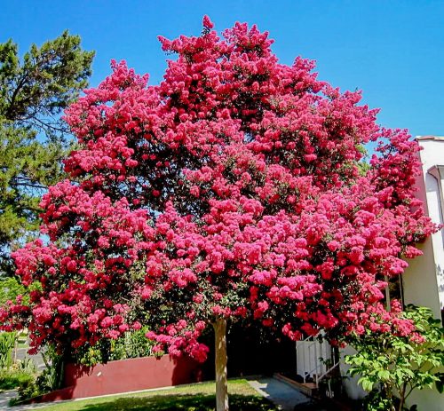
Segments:
[[[213,323],[216,363],[216,411],[228,411],[228,383],[226,381],[226,320]]]

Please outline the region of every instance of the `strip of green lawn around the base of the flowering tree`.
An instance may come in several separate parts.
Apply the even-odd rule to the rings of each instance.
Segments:
[[[230,411],[277,411],[245,380],[230,380]],[[182,385],[170,390],[147,391],[112,397],[83,399],[40,408],[40,411],[211,411],[215,409],[215,384]]]

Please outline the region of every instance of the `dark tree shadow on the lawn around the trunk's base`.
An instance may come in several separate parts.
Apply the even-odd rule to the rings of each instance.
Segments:
[[[78,411],[212,411],[216,408],[214,395],[157,395],[155,397],[123,398],[89,404]],[[276,411],[267,399],[248,395],[230,395],[230,411]]]

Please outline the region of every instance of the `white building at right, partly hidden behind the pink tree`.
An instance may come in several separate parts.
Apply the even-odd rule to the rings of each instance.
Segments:
[[[416,141],[422,147],[417,154],[422,162],[422,173],[416,178],[416,195],[423,201],[425,213],[432,221],[443,224],[444,137],[424,136],[416,138]],[[408,269],[401,276],[401,297],[404,304],[431,308],[435,318],[444,322],[444,230],[432,234],[423,244],[419,244],[418,248],[423,251],[423,255],[408,261]],[[353,348],[347,347],[341,352],[341,357],[352,353]],[[318,380],[320,376],[326,375],[329,370],[319,360],[321,356],[332,359],[326,343],[320,344],[313,340],[298,342],[297,374],[317,373]],[[336,362],[330,360],[329,365],[334,367]],[[343,360],[339,361],[342,375],[346,375],[347,367]],[[362,398],[366,394],[357,381],[358,377],[344,381],[345,391],[352,399]],[[416,404],[418,409],[442,411],[444,395],[434,389],[416,390],[408,397],[408,407],[413,404]]]

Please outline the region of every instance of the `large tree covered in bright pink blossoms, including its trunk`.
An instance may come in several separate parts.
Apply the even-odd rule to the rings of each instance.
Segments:
[[[124,62],[67,109],[80,148],[41,203],[42,233],[14,253],[27,304],[0,313],[32,346],[77,349],[139,328],[157,350],[205,360],[216,333],[217,407],[228,408],[227,321],[293,340],[372,327],[385,276],[434,226],[414,199],[416,142],[377,126],[359,92],[278,63],[267,33],[160,37],[160,85]],[[380,141],[369,164],[362,145]],[[396,317],[397,318],[397,317]],[[394,329],[407,335],[408,320]]]

